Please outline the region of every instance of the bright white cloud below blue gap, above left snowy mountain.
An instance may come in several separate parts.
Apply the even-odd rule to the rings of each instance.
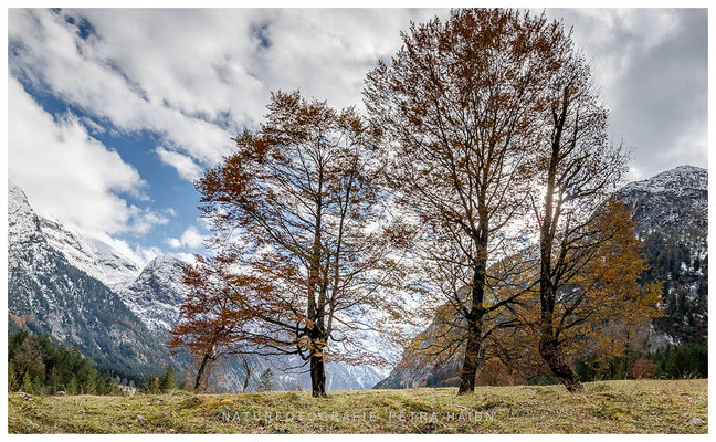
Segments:
[[[13,77],[8,83],[9,177],[38,212],[87,233],[145,233],[168,220],[129,204],[122,193],[145,199],[145,181],[119,155],[91,137],[72,114],[43,110]]]

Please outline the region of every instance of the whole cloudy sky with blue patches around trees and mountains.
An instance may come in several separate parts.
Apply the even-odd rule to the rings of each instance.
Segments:
[[[707,12],[547,10],[573,27],[631,179],[707,166]],[[140,264],[209,234],[192,181],[271,91],[362,109],[400,31],[446,10],[11,9],[9,178],[41,214]]]

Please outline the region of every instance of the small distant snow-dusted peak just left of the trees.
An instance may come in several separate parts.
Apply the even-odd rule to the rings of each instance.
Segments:
[[[176,257],[157,256],[135,281],[116,286],[127,307],[157,334],[166,334],[179,320],[179,306],[187,296],[181,283],[185,265]]]

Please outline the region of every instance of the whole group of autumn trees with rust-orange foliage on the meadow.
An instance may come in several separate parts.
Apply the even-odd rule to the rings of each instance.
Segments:
[[[611,201],[629,151],[564,24],[460,9],[401,35],[367,75],[367,118],[273,93],[198,180],[215,256],[187,269],[170,341],[202,361],[197,386],[223,355],[291,355],[323,397],[326,361],[385,364],[364,338],[422,315],[410,348],[460,355],[460,393],[512,383],[503,360],[580,391],[577,355],[623,355],[660,314]]]

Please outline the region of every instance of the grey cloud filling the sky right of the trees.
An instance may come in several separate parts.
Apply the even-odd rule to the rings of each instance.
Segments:
[[[610,109],[634,148],[632,178],[707,166],[707,11],[550,10],[575,27]]]

